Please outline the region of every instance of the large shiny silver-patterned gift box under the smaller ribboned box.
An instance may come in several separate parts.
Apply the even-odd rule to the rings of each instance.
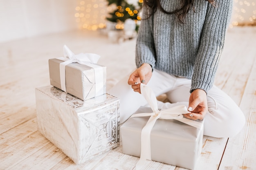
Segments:
[[[74,163],[119,146],[119,99],[104,94],[82,100],[53,86],[36,88],[40,131]]]

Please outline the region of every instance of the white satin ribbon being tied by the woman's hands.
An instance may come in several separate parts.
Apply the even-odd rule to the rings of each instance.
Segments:
[[[186,106],[179,105],[168,109],[158,110],[157,108],[157,99],[155,94],[150,87],[141,83],[140,85],[141,95],[147,100],[150,108],[153,110],[153,113],[138,113],[134,114],[131,117],[145,117],[150,116],[147,124],[141,130],[141,155],[140,159],[136,164],[136,169],[139,170],[144,166],[146,160],[151,160],[151,151],[150,151],[150,132],[155,124],[157,119],[175,119],[181,121],[185,124],[193,126],[195,128],[200,128],[201,123],[198,121],[193,121],[186,119],[182,114],[188,113]]]

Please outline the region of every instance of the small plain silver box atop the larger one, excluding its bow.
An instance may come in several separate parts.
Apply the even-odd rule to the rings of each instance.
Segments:
[[[65,78],[65,89],[63,89],[60,72],[60,64],[63,62],[56,58],[49,59],[49,75],[52,86],[60,88],[83,100],[106,93],[106,66],[99,64],[67,64],[64,71],[65,75],[63,75]],[[92,66],[97,68],[93,68]],[[99,73],[96,73],[96,71]]]

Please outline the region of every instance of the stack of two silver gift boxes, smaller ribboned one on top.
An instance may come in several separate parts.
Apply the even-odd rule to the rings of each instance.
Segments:
[[[52,86],[36,88],[36,112],[38,130],[79,164],[119,146],[119,99],[106,93],[106,66],[67,53],[49,60]]]

